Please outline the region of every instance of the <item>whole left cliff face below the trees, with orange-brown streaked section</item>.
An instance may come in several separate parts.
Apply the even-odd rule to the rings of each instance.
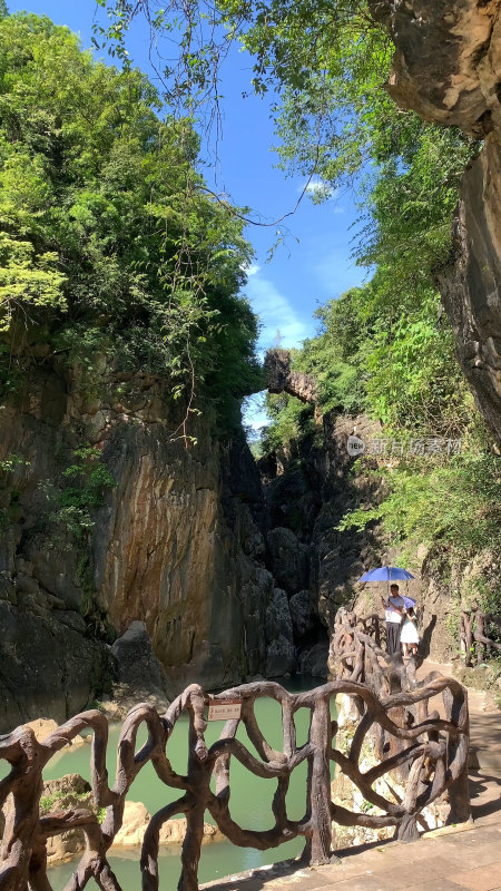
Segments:
[[[132,621],[146,625],[168,696],[191,679],[214,688],[292,667],[275,658],[279,628],[263,621],[278,595],[245,441],[223,446],[203,415],[185,442],[158,380],[118,380],[102,361],[96,381],[47,360],[2,400],[0,461],[16,458],[0,479],[3,730],[65,719],[106,692],[110,644]],[[73,508],[52,490],[82,446],[115,484],[73,535]]]

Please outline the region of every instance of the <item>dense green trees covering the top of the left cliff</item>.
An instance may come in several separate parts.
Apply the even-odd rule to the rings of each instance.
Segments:
[[[0,18],[0,329],[3,349],[20,341],[13,364],[47,326],[70,363],[106,354],[115,372],[167,378],[190,408],[210,390],[233,417],[261,385],[256,319],[238,296],[250,251],[206,194],[190,121],[47,18]]]

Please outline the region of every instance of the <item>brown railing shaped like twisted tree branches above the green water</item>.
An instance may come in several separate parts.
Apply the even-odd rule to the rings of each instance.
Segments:
[[[443,695],[446,718],[428,714],[429,699]],[[331,719],[331,702],[338,695],[356,697],[364,709],[346,753],[335,748],[337,725]],[[258,726],[256,699],[267,696],[282,707],[283,747],[273,748]],[[149,705],[138,705],[124,722],[119,743],[115,784],[110,787],[106,770],[108,723],[97,711],[85,712],[68,721],[43,742],[38,742],[29,726],[18,727],[0,737],[0,756],[11,771],[0,783],[0,804],[7,802],[6,828],[0,861],[1,891],[50,891],[47,872],[47,840],[51,835],[80,826],[87,841],[86,851],[67,883],[67,891],[82,889],[90,879],[106,891],[119,891],[107,854],[121,826],[127,793],[143,767],[151,762],[158,780],[179,790],[180,796],[167,804],[148,823],[140,871],[143,889],[159,888],[158,852],[161,825],[175,814],[184,814],[187,832],[181,852],[181,891],[196,891],[204,814],[207,810],[220,831],[239,846],[266,850],[296,836],[305,841],[304,858],[311,864],[331,860],[335,840],[334,824],[394,826],[401,840],[416,838],[416,819],[428,804],[445,789],[452,804],[452,819],[469,816],[464,772],[468,758],[468,703],[465,692],[455,681],[431,677],[416,689],[382,695],[366,684],[355,681],[334,681],[306,693],[291,694],[272,682],[245,684],[226,691],[212,703],[235,699],[242,703],[240,717],[224,725],[220,738],[210,747],[205,742],[205,708],[208,697],[198,685],[191,685],[175,699],[164,715]],[[298,708],[311,713],[307,742],[297,746],[294,715]],[[183,712],[189,718],[188,765],[186,775],[177,774],[168,760],[168,743]],[[411,721],[414,716],[414,722]],[[236,738],[239,724],[246,728],[254,746],[252,753]],[[139,727],[146,724],[147,742],[136,751]],[[391,742],[382,753],[381,764],[363,773],[361,751],[366,734],[377,727]],[[85,730],[94,732],[91,747],[91,783],[96,806],[106,809],[102,824],[86,809],[40,813],[42,772],[50,758]],[[276,783],[272,811],[273,829],[255,831],[239,826],[230,813],[230,763],[240,762],[250,773]],[[306,806],[302,820],[289,820],[286,794],[291,774],[307,762]],[[342,771],[362,792],[376,814],[351,812],[337,806],[331,797],[331,763]],[[406,766],[406,794],[401,803],[387,801],[373,790],[374,782],[389,771]],[[215,792],[210,789],[215,775]],[[49,872],[50,875],[50,872]]]

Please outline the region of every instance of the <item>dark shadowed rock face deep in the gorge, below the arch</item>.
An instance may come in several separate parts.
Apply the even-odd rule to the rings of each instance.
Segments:
[[[336,529],[361,500],[377,498],[372,479],[351,474],[347,439],[354,431],[369,439],[376,428],[363,415],[330,412],[316,435],[259,462],[271,530],[268,567],[288,598],[298,667],[310,674],[325,675],[335,613],[353,603],[356,579],[381,559],[376,530]]]

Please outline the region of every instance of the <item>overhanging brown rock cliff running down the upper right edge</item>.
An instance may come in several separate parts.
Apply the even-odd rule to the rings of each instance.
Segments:
[[[465,172],[455,249],[440,277],[458,356],[501,442],[501,2],[372,0],[395,43],[387,90],[424,120],[485,139]]]

